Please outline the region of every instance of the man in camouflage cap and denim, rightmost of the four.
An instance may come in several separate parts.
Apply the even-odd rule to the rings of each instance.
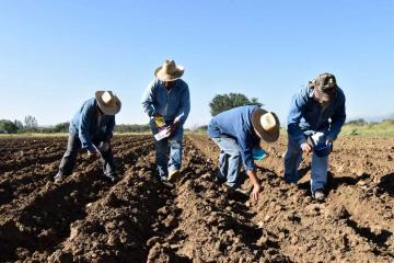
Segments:
[[[318,75],[293,96],[288,115],[286,182],[297,184],[302,152],[309,153],[318,145],[331,148],[345,119],[345,95],[332,73]],[[312,156],[311,192],[312,197],[324,201],[328,153],[318,156],[316,152],[314,150]]]

